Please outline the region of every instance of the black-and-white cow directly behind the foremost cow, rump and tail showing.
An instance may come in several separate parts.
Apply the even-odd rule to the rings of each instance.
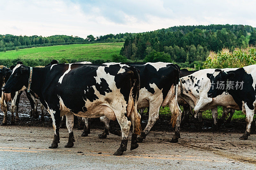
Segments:
[[[181,110],[177,103],[176,90],[178,89],[180,67],[177,64],[164,62],[121,64],[128,64],[140,70],[140,96],[137,109],[149,107],[148,124],[138,137],[138,141],[142,142],[146,138],[158,120],[160,107],[168,105],[172,112],[172,125],[174,126],[176,123],[172,142],[177,142],[180,138]],[[108,131],[120,135],[119,131],[109,126],[109,120],[106,117],[100,117],[100,120],[105,124],[105,129],[102,134],[99,134],[99,138],[106,138]],[[83,134],[86,134],[86,131]]]

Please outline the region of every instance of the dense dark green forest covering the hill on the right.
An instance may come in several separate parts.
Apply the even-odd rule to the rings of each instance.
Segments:
[[[174,62],[193,66],[195,61],[202,63],[210,51],[219,52],[222,48],[232,51],[248,43],[256,43],[256,32],[247,25],[179,26],[133,34],[126,38],[120,54],[131,60],[148,60],[156,52],[166,53]]]

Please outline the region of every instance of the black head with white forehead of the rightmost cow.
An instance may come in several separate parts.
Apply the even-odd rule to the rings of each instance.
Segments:
[[[234,78],[235,74],[227,73],[220,69],[215,69],[213,74],[207,73],[207,77],[210,79],[212,83],[210,90],[207,92],[207,96],[214,98],[221,95],[226,90],[226,88],[218,87],[220,83],[223,83],[225,87],[227,84],[227,79]]]

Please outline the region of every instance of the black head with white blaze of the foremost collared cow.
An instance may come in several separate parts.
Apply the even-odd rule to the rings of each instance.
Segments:
[[[11,93],[12,91],[26,89],[26,86],[28,86],[29,67],[22,64],[17,64],[11,73],[10,78],[2,88],[3,92]]]

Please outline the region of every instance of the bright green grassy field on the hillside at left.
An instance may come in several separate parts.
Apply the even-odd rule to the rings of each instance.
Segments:
[[[20,49],[18,51],[0,52],[1,59],[111,59],[113,54],[119,54],[123,42],[120,43],[95,43],[72,44],[60,46],[46,46]]]

